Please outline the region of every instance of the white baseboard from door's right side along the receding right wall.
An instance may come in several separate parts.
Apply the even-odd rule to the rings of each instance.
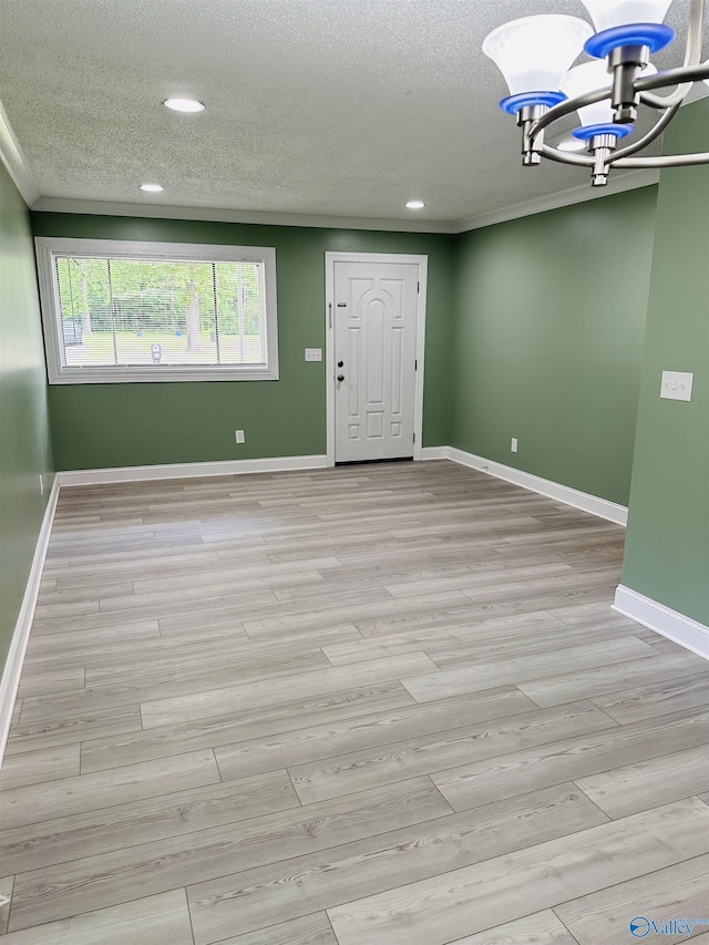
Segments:
[[[546,495],[548,499],[555,499],[565,505],[573,505],[574,509],[589,512],[599,518],[607,518],[608,522],[615,522],[616,525],[627,525],[628,523],[628,510],[625,505],[617,505],[615,502],[608,502],[607,499],[579,492],[568,485],[562,485],[558,482],[515,470],[513,466],[505,466],[503,463],[486,460],[484,456],[476,456],[474,453],[466,453],[465,450],[459,450],[456,446],[427,446],[422,450],[422,454],[424,460],[453,460],[454,463],[487,473],[487,475],[493,475],[496,479],[504,479],[506,482],[521,485],[523,489],[537,492],[540,495]]]

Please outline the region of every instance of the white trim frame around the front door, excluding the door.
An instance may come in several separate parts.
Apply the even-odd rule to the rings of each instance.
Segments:
[[[429,257],[408,253],[326,253],[325,254],[325,388],[327,424],[327,464],[335,465],[335,264],[336,263],[399,263],[419,267],[417,296],[417,372],[413,391],[413,459],[421,459],[423,443],[423,377],[425,372],[425,310],[429,279]],[[330,325],[332,311],[332,325]]]

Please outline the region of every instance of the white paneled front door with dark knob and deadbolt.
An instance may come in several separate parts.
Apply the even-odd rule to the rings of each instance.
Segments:
[[[413,455],[419,267],[335,263],[335,461]]]

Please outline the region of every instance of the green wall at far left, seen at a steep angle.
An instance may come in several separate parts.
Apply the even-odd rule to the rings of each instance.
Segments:
[[[49,442],[29,214],[0,163],[0,672],[52,485]]]

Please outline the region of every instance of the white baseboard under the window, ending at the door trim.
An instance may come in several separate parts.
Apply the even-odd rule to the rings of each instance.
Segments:
[[[327,466],[325,455],[266,456],[261,460],[224,460],[212,463],[166,463],[156,466],[116,466],[102,470],[58,472],[60,485],[100,485],[107,482],[146,482],[158,479],[192,479],[208,475],[240,475],[288,470],[319,470]]]

